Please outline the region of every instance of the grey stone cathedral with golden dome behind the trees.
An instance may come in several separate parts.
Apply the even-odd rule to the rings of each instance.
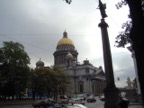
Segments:
[[[54,65],[61,67],[69,75],[71,88],[67,91],[68,94],[103,94],[106,79],[102,67],[93,66],[87,59],[79,63],[78,52],[66,31],[58,41],[53,56]],[[41,60],[36,63],[36,67],[43,66],[44,63]]]

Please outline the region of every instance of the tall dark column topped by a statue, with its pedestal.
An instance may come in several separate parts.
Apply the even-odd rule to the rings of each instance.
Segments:
[[[105,17],[107,17],[105,13],[106,5],[103,4],[101,0],[99,0],[99,9],[101,12],[102,19],[98,26],[101,28],[101,34],[102,34],[103,57],[104,57],[104,67],[106,74],[106,88],[104,89],[105,94],[104,108],[119,108],[119,90],[116,88],[114,83],[111,50],[107,31],[108,24],[105,22],[104,19]]]

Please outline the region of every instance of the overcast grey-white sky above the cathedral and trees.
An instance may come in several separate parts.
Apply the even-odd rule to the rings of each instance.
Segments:
[[[113,68],[117,86],[126,85],[127,77],[135,77],[131,53],[127,48],[116,48],[115,37],[122,23],[128,20],[127,6],[117,10],[121,0],[102,0],[106,3],[105,19],[109,25]],[[41,58],[45,66],[54,64],[53,53],[66,30],[79,53],[78,61],[88,59],[94,66],[102,66],[103,51],[101,31],[98,27],[101,15],[98,0],[0,0],[0,47],[3,41],[20,42],[28,53],[32,68]]]

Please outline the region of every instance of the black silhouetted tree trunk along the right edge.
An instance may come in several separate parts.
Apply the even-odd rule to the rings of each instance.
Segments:
[[[130,33],[130,39],[132,40],[132,47],[135,51],[135,57],[137,62],[137,72],[140,82],[142,104],[144,107],[144,48],[143,48],[143,36],[144,36],[144,16],[142,11],[141,0],[126,0],[132,18],[132,30]]]

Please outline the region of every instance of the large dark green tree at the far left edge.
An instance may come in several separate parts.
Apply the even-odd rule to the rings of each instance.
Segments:
[[[4,99],[15,94],[20,98],[26,88],[29,63],[30,58],[22,44],[12,41],[3,42],[3,47],[0,48],[0,87]]]

